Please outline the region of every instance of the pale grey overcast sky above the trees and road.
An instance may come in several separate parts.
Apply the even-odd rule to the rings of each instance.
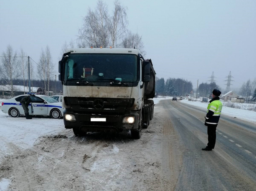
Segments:
[[[114,0],[104,1],[109,13]],[[256,78],[256,0],[120,0],[128,29],[142,36],[144,58],[157,76],[199,84],[210,80],[224,91]],[[76,40],[82,18],[96,0],[5,0],[0,4],[0,54],[8,45],[39,62],[48,45],[56,65],[65,41]],[[32,62],[32,64],[35,64]]]

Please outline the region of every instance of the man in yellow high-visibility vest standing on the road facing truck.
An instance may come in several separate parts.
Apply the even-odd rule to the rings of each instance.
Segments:
[[[211,151],[214,149],[216,142],[216,127],[218,125],[222,103],[220,102],[221,92],[219,90],[214,89],[212,91],[212,99],[210,100],[210,104],[208,105],[208,113],[205,116],[205,125],[207,126],[207,134],[208,134],[208,144],[206,148],[203,148],[203,151]]]

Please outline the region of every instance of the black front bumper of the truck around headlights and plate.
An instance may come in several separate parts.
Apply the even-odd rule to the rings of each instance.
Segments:
[[[65,114],[72,114],[75,116],[75,121],[67,121]],[[72,111],[65,110],[64,125],[65,128],[79,128],[84,132],[101,132],[101,131],[113,131],[121,132],[124,129],[138,129],[140,124],[140,110],[130,110],[124,115],[92,115],[92,114],[80,114]],[[135,117],[133,124],[122,123],[124,117]],[[91,121],[91,118],[105,118],[106,121]]]

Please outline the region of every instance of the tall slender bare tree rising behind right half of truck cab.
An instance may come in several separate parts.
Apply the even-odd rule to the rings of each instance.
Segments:
[[[119,40],[124,37],[126,27],[128,25],[126,14],[127,8],[121,6],[118,0],[114,2],[114,5],[115,8],[113,15],[110,17],[108,22],[108,30],[110,33],[112,47],[118,47],[121,43]]]

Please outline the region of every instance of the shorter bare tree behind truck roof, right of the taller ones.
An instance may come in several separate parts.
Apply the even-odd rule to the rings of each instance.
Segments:
[[[136,48],[140,50],[141,54],[146,55],[146,51],[144,51],[144,45],[142,42],[142,37],[137,33],[132,33],[129,31],[126,37],[123,39],[122,45],[123,48]]]

